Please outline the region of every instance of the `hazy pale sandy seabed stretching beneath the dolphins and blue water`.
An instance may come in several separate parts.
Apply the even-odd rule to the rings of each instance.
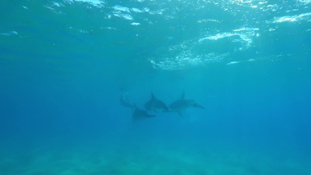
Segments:
[[[2,144],[3,146],[3,144]],[[310,159],[242,147],[159,142],[1,149],[3,175],[310,175]],[[293,154],[294,155],[294,154]]]

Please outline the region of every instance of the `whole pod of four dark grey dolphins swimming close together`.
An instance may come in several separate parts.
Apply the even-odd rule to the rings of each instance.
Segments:
[[[181,110],[187,109],[189,107],[196,107],[205,109],[203,105],[199,105],[192,99],[185,99],[185,92],[182,93],[181,98],[174,101],[171,105],[167,106],[163,101],[156,98],[155,95],[151,92],[151,99],[145,103],[144,107],[145,110],[140,109],[137,107],[136,104],[131,105],[129,103],[129,100],[127,99],[127,93],[124,93],[120,98],[121,105],[125,107],[130,107],[134,109],[132,118],[134,121],[138,121],[140,119],[149,118],[149,117],[155,117],[156,115],[150,115],[148,114],[148,111],[154,111],[157,112],[157,109],[163,109],[163,112],[177,112],[180,116]]]

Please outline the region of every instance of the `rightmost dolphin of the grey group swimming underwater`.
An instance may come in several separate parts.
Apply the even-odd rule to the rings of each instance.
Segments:
[[[170,111],[177,111],[180,116],[182,116],[180,110],[186,109],[188,107],[197,107],[205,109],[204,106],[197,104],[194,100],[185,99],[185,92],[183,92],[183,94],[181,95],[181,99],[176,100],[169,106]]]

